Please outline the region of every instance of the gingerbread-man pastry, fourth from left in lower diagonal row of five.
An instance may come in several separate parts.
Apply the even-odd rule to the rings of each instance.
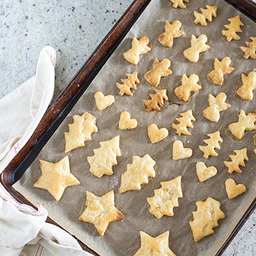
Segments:
[[[209,107],[205,108],[203,111],[203,115],[205,118],[210,120],[211,122],[219,122],[220,120],[220,112],[230,107],[230,104],[225,103],[227,99],[227,95],[221,92],[216,98],[209,94]]]

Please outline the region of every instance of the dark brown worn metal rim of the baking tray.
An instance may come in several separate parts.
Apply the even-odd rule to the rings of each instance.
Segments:
[[[31,205],[36,209],[31,202],[29,202],[18,191],[13,189],[12,185],[20,179],[30,164],[33,163],[40,150],[42,150],[44,145],[51,138],[52,134],[56,131],[56,129],[58,129],[61,122],[63,122],[64,118],[74,107],[81,95],[83,95],[86,88],[88,88],[94,77],[103,67],[104,63],[106,63],[113,51],[115,51],[116,47],[120,44],[134,22],[136,22],[138,17],[140,17],[141,13],[143,10],[145,10],[150,1],[151,0],[134,0],[124,15],[122,15],[118,22],[116,22],[111,31],[109,31],[108,35],[102,40],[102,42],[100,42],[95,51],[93,51],[90,58],[88,58],[77,74],[70,80],[64,90],[61,92],[60,96],[54,100],[49,109],[47,109],[47,112],[38,124],[38,127],[36,127],[36,130],[33,132],[31,138],[29,138],[26,145],[24,145],[17,156],[12,159],[12,161],[4,169],[3,173],[1,173],[1,184],[3,184],[4,188],[6,188],[6,190],[20,203]],[[234,8],[256,22],[256,3],[252,0],[224,1],[231,4],[234,6]],[[250,207],[248,207],[243,217],[239,220],[228,239],[221,246],[218,253],[216,253],[216,256],[222,255],[255,209],[256,198],[253,200]],[[62,228],[60,225],[58,225],[58,223],[51,220],[49,217],[47,218],[47,222]],[[88,248],[86,244],[79,241],[79,239],[77,239],[77,241],[87,252],[100,256]]]

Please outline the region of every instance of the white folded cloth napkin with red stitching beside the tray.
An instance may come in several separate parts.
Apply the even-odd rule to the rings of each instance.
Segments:
[[[36,75],[0,100],[0,173],[24,147],[54,92],[56,52],[40,52]],[[0,256],[89,256],[70,234],[45,223],[47,210],[20,204],[0,184]]]

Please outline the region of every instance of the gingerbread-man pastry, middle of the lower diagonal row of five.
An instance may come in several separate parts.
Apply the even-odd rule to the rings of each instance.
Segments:
[[[189,77],[186,74],[182,75],[181,85],[175,88],[174,93],[181,100],[188,101],[191,92],[196,92],[200,90],[202,87],[198,84],[199,77],[196,74],[193,74]]]

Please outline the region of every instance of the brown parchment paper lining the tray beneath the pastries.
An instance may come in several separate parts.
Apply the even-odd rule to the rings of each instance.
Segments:
[[[239,110],[244,109],[246,113],[256,110],[256,95],[252,102],[245,102],[239,97],[237,99],[234,97],[239,74],[242,72],[248,74],[248,71],[255,68],[256,60],[244,59],[239,46],[246,46],[245,41],[250,41],[250,36],[256,36],[256,24],[222,0],[191,0],[191,3],[186,4],[185,10],[173,9],[171,4],[167,0],[152,0],[63,124],[45,145],[35,162],[31,164],[22,179],[14,185],[14,188],[33,204],[43,203],[54,221],[102,256],[133,255],[140,248],[140,230],[153,237],[170,230],[170,248],[177,256],[215,255],[256,196],[256,156],[252,152],[255,147],[253,145],[255,132],[246,134],[242,141],[232,140],[227,132],[228,124],[237,122]],[[205,4],[218,4],[218,15],[213,18],[212,22],[207,22],[208,26],[203,27],[194,23],[193,11],[199,12],[200,8],[205,8]],[[239,41],[227,42],[225,36],[221,35],[221,30],[224,29],[225,24],[229,24],[227,19],[236,15],[240,15],[241,21],[244,23],[244,26],[241,27],[243,33],[239,33],[241,36]],[[164,47],[157,41],[157,37],[164,32],[165,20],[171,23],[180,20],[182,22],[181,29],[185,32],[180,38],[174,39],[172,48]],[[201,34],[207,35],[207,44],[211,48],[200,54],[197,63],[191,63],[182,52],[191,46],[191,35],[198,37]],[[136,66],[131,65],[123,58],[123,53],[131,48],[133,36],[136,38],[148,36],[152,44],[152,51],[141,56],[140,63]],[[230,57],[231,67],[234,67],[235,70],[225,76],[223,85],[215,86],[207,80],[206,76],[213,70],[214,58],[222,60],[225,56]],[[153,88],[147,84],[143,76],[152,68],[155,57],[160,61],[164,58],[172,61],[170,67],[173,71],[172,76],[163,79],[159,86],[168,90],[170,106],[162,112],[148,113],[145,112],[141,100],[147,99],[148,93],[152,93]],[[131,74],[134,71],[139,73],[141,82],[138,84],[138,90],[133,90],[134,96],[132,97],[120,96],[116,83],[120,83],[120,79],[126,78],[125,73]],[[186,104],[179,100],[173,92],[177,84],[180,83],[182,74],[198,74],[202,86],[202,89],[196,92]],[[104,111],[97,111],[93,99],[93,95],[97,91],[103,92],[104,95],[114,95],[115,103]],[[216,124],[204,118],[202,111],[209,106],[209,93],[216,97],[220,92],[227,94],[226,102],[231,104],[231,107],[221,112],[220,121]],[[196,118],[196,121],[193,122],[194,129],[189,129],[192,135],[178,136],[172,129],[172,123],[180,113],[189,109],[193,110],[193,115]],[[65,154],[64,132],[68,132],[68,124],[73,122],[72,115],[82,115],[85,111],[97,118],[99,132],[92,135],[91,141],[86,141],[85,147]],[[118,129],[122,111],[129,111],[132,117],[138,120],[136,129],[131,131]],[[157,124],[159,128],[166,127],[169,136],[159,143],[150,143],[147,127],[151,123]],[[221,150],[216,150],[219,156],[210,156],[209,159],[205,159],[198,145],[205,145],[203,140],[209,138],[207,134],[216,131],[220,131],[221,138],[223,138]],[[114,174],[104,175],[99,179],[89,172],[90,165],[86,158],[93,156],[93,149],[100,147],[100,141],[110,140],[118,134],[120,135],[122,156],[117,157],[118,165],[113,167]],[[181,140],[184,147],[192,148],[193,156],[189,159],[174,161],[172,145],[175,140]],[[248,148],[249,161],[246,162],[246,167],[242,168],[243,173],[241,175],[229,174],[223,161],[229,159],[228,154],[234,154],[233,150],[244,147]],[[156,161],[156,177],[150,179],[148,184],[144,184],[141,191],[128,191],[119,194],[121,175],[126,171],[126,165],[132,163],[132,156],[143,157],[145,154],[149,154]],[[81,184],[67,188],[61,200],[56,202],[48,191],[32,186],[41,175],[38,159],[56,163],[65,156],[69,157],[70,170]],[[204,161],[207,166],[216,166],[217,175],[205,182],[199,182],[196,176],[198,161]],[[179,199],[179,207],[174,209],[174,216],[164,216],[158,220],[148,211],[147,197],[154,195],[154,189],[161,188],[160,182],[172,180],[179,175],[182,175],[183,192],[183,197]],[[246,193],[232,200],[228,199],[225,191],[225,180],[228,178],[236,180],[237,184],[244,184]],[[79,215],[86,208],[84,191],[92,191],[101,196],[112,189],[115,191],[116,205],[118,209],[122,209],[125,218],[122,221],[111,223],[106,235],[100,237],[93,225],[78,221]],[[219,227],[214,228],[214,234],[205,237],[199,243],[194,243],[189,221],[193,220],[192,212],[196,211],[195,202],[205,200],[209,196],[220,201],[221,210],[225,212],[226,217],[219,221]]]

